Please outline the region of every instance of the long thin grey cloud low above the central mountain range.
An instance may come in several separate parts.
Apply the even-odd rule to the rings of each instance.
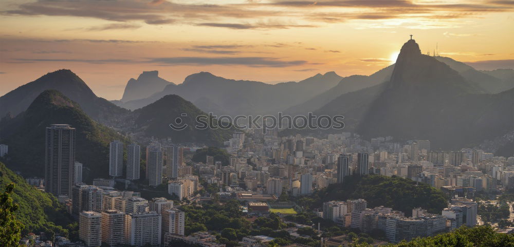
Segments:
[[[153,58],[148,62],[162,65],[244,65],[250,67],[289,67],[307,64],[307,61],[284,61],[276,58],[263,57],[196,57],[181,56],[174,58]]]

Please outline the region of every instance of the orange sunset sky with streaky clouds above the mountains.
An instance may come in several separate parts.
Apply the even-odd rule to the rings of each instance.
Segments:
[[[514,1],[0,1],[0,96],[68,68],[120,99],[146,70],[267,83],[371,74],[409,34],[421,51],[514,68]]]

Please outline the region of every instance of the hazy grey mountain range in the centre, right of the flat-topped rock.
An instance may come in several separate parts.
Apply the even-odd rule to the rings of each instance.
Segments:
[[[177,94],[188,101],[200,102],[199,105],[206,106],[202,107],[202,110],[212,110],[218,115],[262,115],[273,112],[276,114],[334,87],[340,80],[341,77],[335,72],[327,72],[300,82],[271,85],[256,81],[230,80],[209,72],[199,72],[189,75],[182,84],[168,85],[151,97],[128,101],[122,106],[127,109],[138,109],[168,94]]]

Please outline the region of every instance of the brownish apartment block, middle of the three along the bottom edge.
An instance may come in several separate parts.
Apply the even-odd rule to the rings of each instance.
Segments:
[[[109,246],[125,243],[125,214],[116,210],[102,212],[102,242]]]

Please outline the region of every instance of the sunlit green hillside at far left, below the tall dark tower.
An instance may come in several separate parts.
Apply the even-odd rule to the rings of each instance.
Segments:
[[[18,205],[16,218],[23,223],[23,234],[45,232],[51,237],[56,233],[68,233],[63,226],[72,220],[57,199],[27,184],[22,177],[0,163],[0,186],[9,184],[15,184],[10,197]]]

